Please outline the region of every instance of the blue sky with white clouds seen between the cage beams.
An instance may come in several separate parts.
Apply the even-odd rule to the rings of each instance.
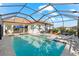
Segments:
[[[1,6],[7,6],[7,5],[25,5],[24,3],[0,3],[0,14],[7,14],[7,13],[12,13],[12,12],[18,12],[23,6],[19,6],[19,7],[1,7]],[[28,3],[26,4],[26,7],[30,7],[32,8],[33,10],[30,10],[28,8],[23,8],[21,10],[21,13],[25,13],[25,14],[32,14],[34,13],[35,11],[34,10],[39,10],[43,7],[45,7],[47,5],[47,3]],[[79,4],[75,4],[75,5],[54,5],[54,7],[57,9],[57,10],[67,10],[67,11],[75,11],[75,10],[79,10]],[[55,11],[53,6],[49,6],[41,11],[39,11],[38,13],[35,13],[32,15],[32,17],[35,19],[35,20],[38,20],[40,19],[43,15],[42,14],[48,14],[52,11]],[[67,12],[61,12],[61,14],[69,14],[69,15],[74,15],[74,16],[78,16],[79,14],[77,13],[67,13]],[[50,15],[47,15],[45,17],[42,18],[42,20],[45,20],[47,19],[49,16],[55,16],[55,15],[59,15],[58,12],[55,12],[55,13],[52,13]],[[24,16],[24,15],[21,15],[21,14],[17,14],[17,16],[21,16],[21,17],[25,17],[27,19],[30,19],[32,20],[30,17],[28,16]],[[63,20],[74,20],[74,21],[64,21],[64,26],[66,27],[71,27],[71,26],[76,26],[77,25],[77,20],[74,19],[74,18],[71,18],[71,17],[63,17]],[[63,26],[63,22],[62,22],[62,18],[61,16],[57,16],[57,17],[53,17],[51,18],[50,20],[52,20],[54,22],[54,27],[61,27]],[[49,21],[49,20],[47,20]],[[58,23],[59,21],[59,23]],[[51,21],[49,21],[51,22]]]

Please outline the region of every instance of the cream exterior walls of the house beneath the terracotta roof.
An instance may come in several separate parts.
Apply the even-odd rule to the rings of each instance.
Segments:
[[[19,25],[22,25],[22,26],[28,26],[28,33],[40,33],[42,31],[45,32],[45,24],[41,24],[41,23],[33,23],[33,24],[20,24],[20,23],[8,23],[8,22],[3,22],[3,35],[6,35],[6,30],[7,30],[7,34],[14,34],[14,29],[13,27],[14,26],[19,26]],[[50,25],[47,25],[47,29],[50,29],[49,27]],[[25,29],[23,29],[23,33],[26,33],[25,32]]]

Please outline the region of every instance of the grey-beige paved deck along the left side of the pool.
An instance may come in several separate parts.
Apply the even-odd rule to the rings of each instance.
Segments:
[[[15,56],[12,49],[12,36],[4,36],[0,40],[0,55],[1,56]]]

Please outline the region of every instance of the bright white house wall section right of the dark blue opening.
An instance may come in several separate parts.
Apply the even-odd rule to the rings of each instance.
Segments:
[[[49,25],[46,27],[47,29],[51,29]],[[28,25],[28,33],[40,33],[40,32],[45,32],[45,24],[32,24]]]

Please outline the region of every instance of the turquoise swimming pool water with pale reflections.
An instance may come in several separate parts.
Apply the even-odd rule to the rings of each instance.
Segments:
[[[60,56],[65,44],[49,40],[45,36],[24,35],[13,38],[17,56]]]

